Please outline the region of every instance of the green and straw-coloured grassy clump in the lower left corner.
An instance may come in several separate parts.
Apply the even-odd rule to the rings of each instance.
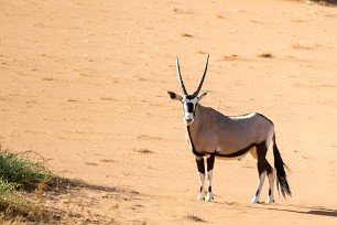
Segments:
[[[42,185],[52,181],[52,173],[42,163],[26,159],[25,153],[12,153],[0,146],[0,224],[43,221],[48,213],[29,200],[23,190],[37,186],[36,197],[42,197]]]

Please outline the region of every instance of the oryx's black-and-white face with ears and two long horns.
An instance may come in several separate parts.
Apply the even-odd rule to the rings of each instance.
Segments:
[[[180,61],[178,61],[178,57],[176,57],[176,73],[177,73],[178,82],[180,82],[180,85],[181,85],[181,88],[182,88],[184,95],[180,96],[180,95],[177,95],[173,92],[167,92],[167,94],[170,95],[170,97],[172,99],[182,101],[183,109],[184,109],[184,122],[185,122],[186,126],[189,126],[189,125],[193,124],[196,106],[207,95],[207,92],[204,92],[200,95],[199,95],[199,92],[202,89],[202,86],[203,86],[203,83],[204,83],[204,79],[205,79],[205,76],[206,76],[208,57],[209,57],[209,55],[207,55],[204,74],[200,78],[198,87],[193,93],[193,95],[187,94],[187,90],[185,88],[185,85],[184,85],[184,82],[183,82],[183,78],[182,78],[182,74],[181,74]]]

